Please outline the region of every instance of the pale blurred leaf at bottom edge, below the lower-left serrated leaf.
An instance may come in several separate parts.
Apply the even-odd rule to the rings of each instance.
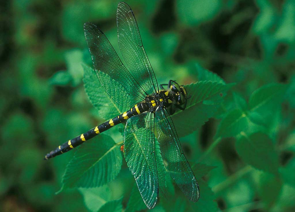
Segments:
[[[105,203],[111,200],[111,191],[107,185],[98,188],[78,188],[83,195],[85,206],[92,212],[101,208]]]

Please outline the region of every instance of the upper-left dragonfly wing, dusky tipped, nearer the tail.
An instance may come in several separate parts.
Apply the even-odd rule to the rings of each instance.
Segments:
[[[84,34],[92,57],[94,69],[106,93],[119,105],[129,108],[142,101],[138,86],[118,57],[103,32],[94,24],[84,24]]]

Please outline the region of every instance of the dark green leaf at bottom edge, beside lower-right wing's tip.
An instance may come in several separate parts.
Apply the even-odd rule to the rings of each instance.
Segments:
[[[216,212],[218,210],[217,202],[215,201],[214,193],[211,188],[207,185],[207,183],[199,179],[198,180],[199,188],[200,188],[200,199],[198,202],[189,202],[187,204],[188,208],[186,211],[188,212]]]

